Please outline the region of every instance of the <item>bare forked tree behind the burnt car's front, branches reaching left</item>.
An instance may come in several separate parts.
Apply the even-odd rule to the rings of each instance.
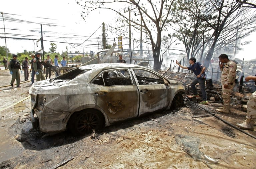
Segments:
[[[135,28],[142,26],[145,29],[147,37],[150,41],[153,58],[154,69],[159,70],[163,62],[161,51],[162,31],[166,29],[166,23],[169,22],[168,16],[170,14],[171,6],[174,0],[144,0],[143,4],[140,0],[77,0],[77,3],[83,6],[85,11],[82,12],[82,17],[85,19],[89,13],[96,9],[112,10],[120,15],[124,21],[130,21]],[[122,7],[136,8],[141,19],[129,19],[125,15]],[[140,22],[141,21],[141,22]],[[137,28],[138,29],[138,28]]]

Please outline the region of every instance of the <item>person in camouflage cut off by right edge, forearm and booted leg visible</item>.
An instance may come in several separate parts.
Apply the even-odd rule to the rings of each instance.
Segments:
[[[245,78],[245,81],[249,81],[249,80],[256,81],[256,76],[249,76]],[[253,130],[253,126],[256,121],[256,91],[252,93],[246,105],[247,105],[246,120],[241,124],[237,123],[236,126],[241,129]]]

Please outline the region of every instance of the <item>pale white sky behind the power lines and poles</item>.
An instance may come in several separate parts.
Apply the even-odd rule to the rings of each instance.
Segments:
[[[14,5],[15,4],[15,5]],[[82,7],[75,0],[1,0],[0,12],[5,18],[6,37],[19,37],[39,39],[41,37],[40,24],[42,24],[44,51],[50,51],[49,41],[57,45],[56,52],[62,53],[68,48],[68,52],[80,53],[100,51],[102,37],[102,22],[106,25],[114,23],[114,13],[110,11],[96,10],[86,20],[82,20],[80,12]],[[11,21],[10,21],[11,20]],[[17,20],[19,20],[17,22]],[[113,44],[114,38],[117,43],[117,35],[107,33],[109,44]],[[4,37],[3,19],[0,15],[0,36]],[[128,35],[127,35],[128,36]],[[90,38],[89,38],[90,37]],[[89,39],[88,39],[89,38]],[[88,40],[87,40],[88,39]],[[254,59],[256,46],[256,33],[241,40],[252,41],[236,55],[239,59]],[[63,42],[63,43],[59,43]],[[38,51],[41,44],[36,40],[13,40],[6,39],[10,53],[21,53],[24,50]],[[0,38],[0,46],[5,46],[5,39]],[[139,50],[139,42],[133,42],[132,48]],[[181,46],[179,46],[180,48]],[[129,48],[128,39],[123,39],[123,49]],[[143,49],[148,46],[143,44]],[[148,48],[150,49],[150,48]],[[173,51],[180,53],[179,51]]]

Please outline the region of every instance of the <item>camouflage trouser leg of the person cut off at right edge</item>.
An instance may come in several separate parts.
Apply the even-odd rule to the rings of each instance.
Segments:
[[[256,91],[252,93],[247,102],[247,118],[256,121]]]

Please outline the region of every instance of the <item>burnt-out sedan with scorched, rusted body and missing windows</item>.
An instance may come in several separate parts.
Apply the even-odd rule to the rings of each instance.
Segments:
[[[128,118],[183,106],[184,86],[132,64],[82,66],[34,83],[31,122],[42,132],[82,135]]]

